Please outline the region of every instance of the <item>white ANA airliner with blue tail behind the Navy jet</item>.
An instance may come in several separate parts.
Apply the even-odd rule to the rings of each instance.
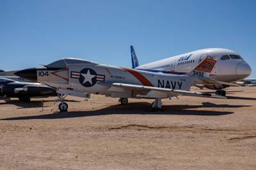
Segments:
[[[210,78],[222,82],[236,82],[248,77],[252,69],[239,54],[228,49],[202,49],[180,54],[145,65],[139,65],[138,58],[131,46],[132,68],[136,70],[147,70],[149,72],[163,72],[182,75],[191,72],[196,65],[210,58],[218,61],[214,66]],[[195,84],[196,85],[196,84]],[[205,82],[205,88],[216,89],[217,95],[226,95],[223,88],[232,86],[232,84],[213,84]]]

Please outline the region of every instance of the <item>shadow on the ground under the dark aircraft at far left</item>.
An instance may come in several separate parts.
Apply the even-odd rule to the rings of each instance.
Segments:
[[[31,101],[31,102],[20,102],[19,100],[4,100],[5,102],[0,102],[0,105],[4,104],[12,104],[17,105],[19,108],[17,109],[24,109],[24,108],[36,108],[42,107],[42,101]],[[66,102],[80,102],[76,100],[65,100]],[[44,100],[44,102],[55,102],[55,100]],[[44,105],[44,107],[49,107],[49,105]]]

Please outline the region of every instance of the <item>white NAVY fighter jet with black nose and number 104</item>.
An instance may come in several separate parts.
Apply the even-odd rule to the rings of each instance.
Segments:
[[[225,98],[213,93],[190,91],[196,83],[211,82],[227,84],[209,78],[216,60],[205,58],[191,72],[184,75],[147,72],[118,66],[103,65],[76,58],[64,58],[42,68],[28,68],[15,75],[42,82],[57,88],[60,111],[67,111],[67,95],[90,98],[90,94],[119,98],[121,104],[127,104],[128,98],[154,99],[152,109],[161,108],[161,98],[173,98],[179,95],[193,97]]]

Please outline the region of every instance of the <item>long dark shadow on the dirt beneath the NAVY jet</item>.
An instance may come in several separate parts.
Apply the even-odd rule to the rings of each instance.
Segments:
[[[57,112],[56,114],[43,114],[37,116],[22,116],[16,118],[5,118],[1,120],[34,120],[34,119],[62,119],[62,118],[77,118],[84,116],[99,116],[109,114],[158,114],[158,115],[201,115],[201,116],[221,116],[232,114],[234,112],[221,111],[222,108],[238,108],[250,107],[251,105],[216,105],[209,102],[204,102],[202,105],[164,105],[163,111],[152,111],[150,104],[147,102],[137,102],[128,105],[111,105],[103,109],[95,111],[69,111]],[[204,111],[194,109],[204,108]],[[212,111],[211,108],[219,108],[220,111]]]

